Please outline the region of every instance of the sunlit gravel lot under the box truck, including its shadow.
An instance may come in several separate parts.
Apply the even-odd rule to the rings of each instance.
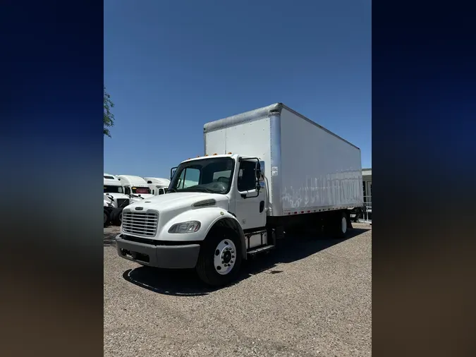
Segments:
[[[370,356],[372,226],[287,239],[205,288],[193,271],[119,258],[104,229],[104,356]]]

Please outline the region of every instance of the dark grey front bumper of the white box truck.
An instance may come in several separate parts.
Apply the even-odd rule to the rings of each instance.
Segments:
[[[150,267],[168,269],[189,269],[197,265],[199,244],[180,246],[140,243],[125,239],[122,234],[116,236],[117,253],[121,258],[138,262]]]

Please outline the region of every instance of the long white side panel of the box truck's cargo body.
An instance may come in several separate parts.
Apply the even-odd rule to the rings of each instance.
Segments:
[[[363,205],[360,149],[287,109],[280,169],[283,214]]]

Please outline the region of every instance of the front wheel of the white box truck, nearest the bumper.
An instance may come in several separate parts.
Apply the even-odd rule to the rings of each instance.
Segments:
[[[242,258],[238,234],[231,229],[217,229],[203,241],[195,270],[205,284],[224,286],[236,279]]]

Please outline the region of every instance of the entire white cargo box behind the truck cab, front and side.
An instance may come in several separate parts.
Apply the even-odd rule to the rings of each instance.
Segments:
[[[204,126],[205,155],[260,157],[269,215],[361,207],[360,149],[281,103]]]

